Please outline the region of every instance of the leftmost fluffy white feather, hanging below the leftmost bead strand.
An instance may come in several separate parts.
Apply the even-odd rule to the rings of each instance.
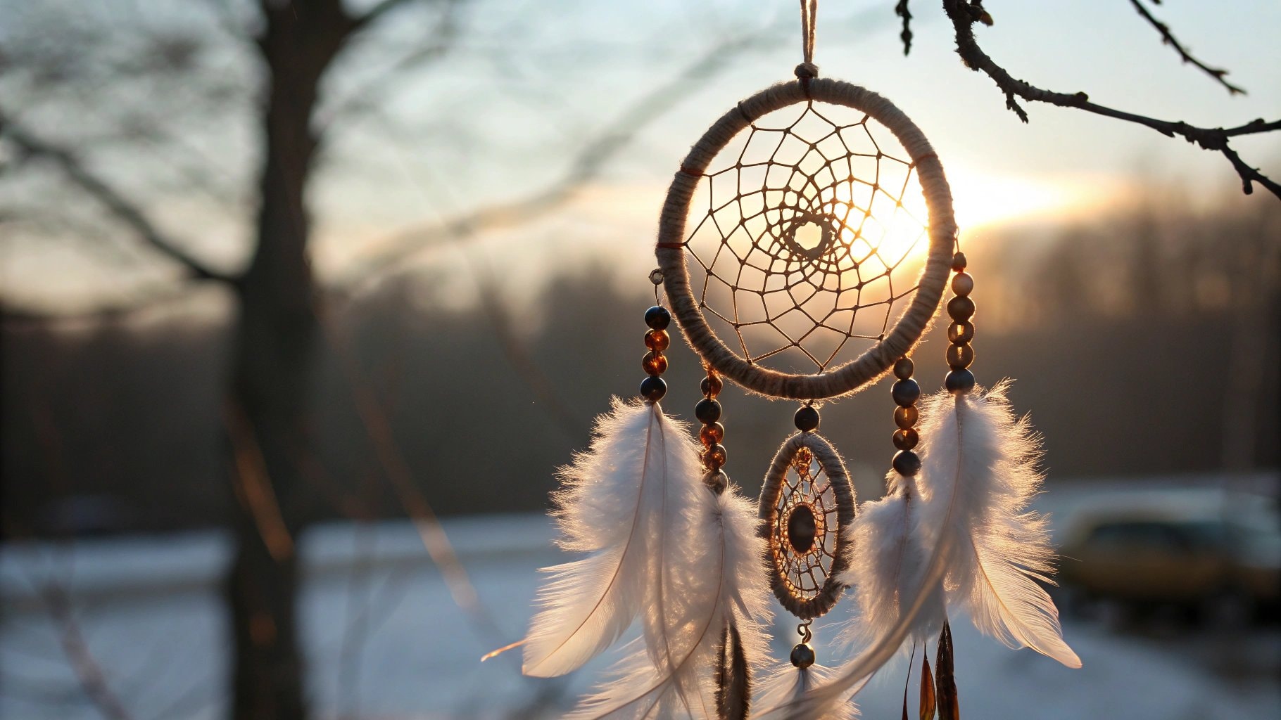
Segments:
[[[565,550],[584,559],[546,568],[525,637],[526,675],[562,675],[612,645],[632,624],[673,542],[690,537],[690,508],[707,491],[685,427],[658,404],[614,400],[591,449],[561,468],[555,496]],[[658,583],[661,584],[661,583]]]

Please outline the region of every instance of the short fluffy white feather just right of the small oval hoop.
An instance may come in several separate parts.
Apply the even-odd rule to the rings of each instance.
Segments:
[[[920,591],[930,559],[916,527],[920,499],[912,478],[890,472],[888,481],[890,490],[885,497],[858,508],[848,569],[838,578],[853,588],[858,615],[852,639],[861,643],[871,643],[898,623]],[[943,616],[943,595],[931,592],[911,619],[908,633],[924,641],[938,632]]]

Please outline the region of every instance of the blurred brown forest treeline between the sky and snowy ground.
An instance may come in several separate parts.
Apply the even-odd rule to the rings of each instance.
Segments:
[[[1278,466],[1281,208],[1216,207],[1198,212],[1154,192],[1053,230],[962,238],[977,281],[976,373],[983,384],[1017,379],[1016,405],[1047,435],[1052,483]],[[617,272],[585,262],[547,279],[528,299],[537,321],[520,327],[493,308],[443,309],[430,274],[330,302],[309,411],[318,457],[302,463],[314,492],[288,510],[404,515],[380,478],[382,426],[361,414],[363,398],[384,414],[438,514],[544,508],[553,468],[587,444],[607,396],[633,394],[642,377],[640,315],[652,298],[643,279]],[[215,439],[228,326],[204,317],[68,322],[5,312],[8,528],[225,520],[233,497]],[[944,372],[938,333],[916,352],[927,390]],[[698,363],[683,343],[671,359],[665,405],[688,417]],[[728,469],[752,492],[790,431],[792,408],[740,391],[725,407]],[[822,432],[863,495],[879,494],[893,453],[890,408],[884,386],[824,408]]]

